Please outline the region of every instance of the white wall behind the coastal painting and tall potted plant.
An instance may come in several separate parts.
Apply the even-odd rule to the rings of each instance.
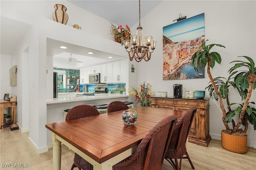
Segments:
[[[204,79],[162,80],[162,28],[173,24],[179,14],[190,18],[204,13],[205,38],[208,43],[220,43],[226,48],[214,48],[222,56],[222,64],[212,70],[213,77],[228,75],[231,61],[237,56],[247,55],[256,61],[256,1],[163,1],[147,16],[141,19],[144,35],[152,35],[157,41],[156,49],[148,62],[140,62],[136,71],[138,83],[146,81],[152,84],[154,91],[167,91],[172,96],[172,85],[183,85],[186,90],[204,90],[209,78],[205,70]],[[134,31],[134,28],[131,30]],[[152,79],[154,77],[154,79]],[[209,97],[206,91],[206,97]],[[240,99],[237,93],[230,94],[231,103]],[[256,101],[255,91],[250,101]],[[224,129],[219,103],[210,99],[210,135],[220,139]],[[256,131],[253,126],[248,130],[248,146],[256,146]]]

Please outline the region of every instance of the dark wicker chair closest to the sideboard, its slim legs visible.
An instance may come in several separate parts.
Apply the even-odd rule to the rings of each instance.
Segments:
[[[182,158],[188,159],[192,169],[195,169],[186,150],[186,140],[195,113],[196,107],[188,109],[174,127],[172,138],[165,155],[165,159],[172,165],[174,170],[181,169]],[[174,159],[175,162],[172,159]],[[180,165],[178,164],[178,159],[180,159]]]

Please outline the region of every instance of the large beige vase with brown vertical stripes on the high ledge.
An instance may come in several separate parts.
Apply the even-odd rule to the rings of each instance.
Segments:
[[[53,20],[66,25],[68,22],[67,8],[62,4],[55,4],[54,8],[55,11],[52,13]]]

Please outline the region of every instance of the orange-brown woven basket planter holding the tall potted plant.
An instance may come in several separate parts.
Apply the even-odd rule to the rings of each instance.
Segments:
[[[234,136],[223,131],[221,130],[221,145],[224,149],[239,154],[247,152],[247,135]]]

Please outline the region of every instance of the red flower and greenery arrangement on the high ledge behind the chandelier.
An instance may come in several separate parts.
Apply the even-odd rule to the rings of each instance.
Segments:
[[[110,26],[110,34],[114,36],[114,41],[119,42],[122,45],[124,44],[124,40],[130,40],[131,31],[128,25],[126,25],[126,28],[123,28],[122,26],[117,26],[111,23]],[[119,30],[120,29],[120,30]]]

